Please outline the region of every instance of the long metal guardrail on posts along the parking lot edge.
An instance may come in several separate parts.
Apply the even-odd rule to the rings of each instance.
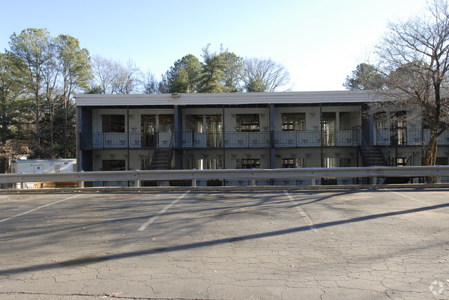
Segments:
[[[84,187],[84,181],[134,181],[140,186],[142,180],[168,181],[189,180],[195,186],[199,179],[249,179],[256,186],[256,179],[308,178],[315,180],[324,177],[441,177],[449,176],[449,166],[410,166],[410,167],[351,167],[351,168],[289,168],[289,169],[219,169],[219,170],[151,170],[116,172],[66,172],[48,174],[0,174],[0,183],[23,182],[77,182]],[[376,182],[375,180],[373,182]]]

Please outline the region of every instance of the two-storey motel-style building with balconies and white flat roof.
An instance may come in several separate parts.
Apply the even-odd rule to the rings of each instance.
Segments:
[[[429,138],[419,109],[374,113],[370,103],[379,99],[363,90],[75,98],[77,166],[84,171],[419,166]],[[447,164],[448,153],[446,132],[439,139],[441,164]],[[115,184],[130,183],[95,183]],[[197,184],[248,182],[211,179]]]

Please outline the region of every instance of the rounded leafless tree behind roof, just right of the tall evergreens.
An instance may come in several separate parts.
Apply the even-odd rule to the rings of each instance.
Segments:
[[[290,75],[272,59],[249,58],[245,59],[242,81],[247,92],[275,92],[289,84]]]

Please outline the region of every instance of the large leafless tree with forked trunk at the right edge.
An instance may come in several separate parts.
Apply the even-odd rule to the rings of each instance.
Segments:
[[[426,12],[407,21],[388,23],[376,47],[376,70],[387,79],[379,90],[390,106],[420,107],[430,141],[424,164],[437,158],[437,138],[449,125],[449,11],[446,0],[429,1]]]

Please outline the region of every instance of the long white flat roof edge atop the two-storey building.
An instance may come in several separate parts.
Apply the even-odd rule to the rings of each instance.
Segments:
[[[76,94],[76,106],[210,106],[242,104],[365,103],[379,101],[367,90],[176,94]]]

